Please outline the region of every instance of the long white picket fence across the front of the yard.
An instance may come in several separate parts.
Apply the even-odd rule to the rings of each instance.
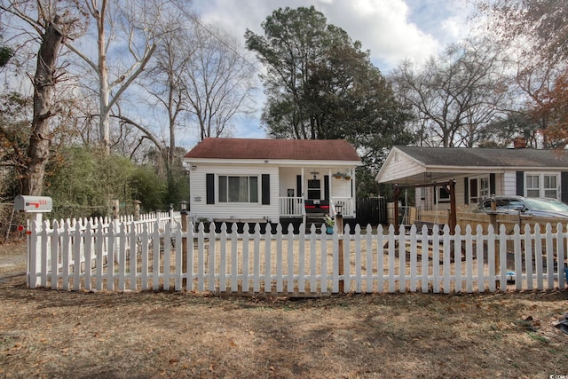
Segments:
[[[165,220],[165,222],[164,222]],[[163,223],[162,223],[163,222]],[[188,290],[326,296],[339,292],[484,292],[564,288],[568,232],[557,225],[508,234],[438,226],[359,225],[354,233],[261,233],[236,225],[183,232],[176,217],[146,222],[30,225],[28,285],[64,290]],[[268,228],[270,229],[270,228]],[[340,256],[341,255],[341,256]]]

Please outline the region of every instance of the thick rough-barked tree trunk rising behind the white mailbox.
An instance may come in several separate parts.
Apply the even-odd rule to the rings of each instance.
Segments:
[[[41,195],[43,175],[47,164],[51,135],[49,118],[54,114],[51,104],[55,90],[55,64],[63,36],[59,32],[55,17],[43,33],[42,44],[37,53],[36,76],[34,77],[34,118],[28,146],[28,171],[22,178],[22,193]]]

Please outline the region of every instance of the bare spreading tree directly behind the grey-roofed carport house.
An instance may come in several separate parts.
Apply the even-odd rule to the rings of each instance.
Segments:
[[[487,43],[454,44],[422,68],[405,62],[391,80],[414,109],[421,145],[475,146],[480,128],[507,107],[508,81]]]

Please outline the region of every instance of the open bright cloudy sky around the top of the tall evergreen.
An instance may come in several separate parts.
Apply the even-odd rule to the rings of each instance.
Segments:
[[[472,11],[469,0],[195,0],[193,10],[202,20],[242,37],[247,28],[262,35],[261,23],[279,7],[310,5],[326,16],[327,23],[359,40],[383,74],[403,59],[420,63],[467,36]],[[258,126],[262,91],[257,107],[256,118],[237,122],[233,137],[264,138]]]

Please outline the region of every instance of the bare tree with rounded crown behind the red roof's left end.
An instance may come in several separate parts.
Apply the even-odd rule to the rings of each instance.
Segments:
[[[124,115],[122,122],[137,124],[145,138],[154,143],[155,156],[162,159],[168,191],[175,190],[180,150],[177,133],[188,122],[199,124],[200,137],[226,135],[237,114],[247,114],[253,90],[254,67],[243,59],[234,38],[220,28],[204,26],[183,8],[170,16],[172,24],[162,35],[148,69],[141,75],[147,101],[154,112],[163,114],[163,130],[144,126]],[[162,136],[158,133],[162,131]]]

